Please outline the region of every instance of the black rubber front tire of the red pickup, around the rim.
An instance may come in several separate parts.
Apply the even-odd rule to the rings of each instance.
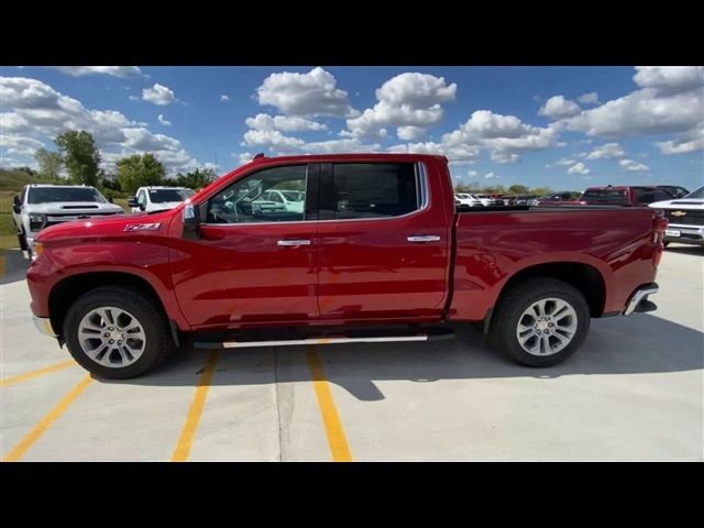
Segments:
[[[125,310],[141,323],[146,339],[144,351],[134,363],[122,367],[105,366],[84,352],[78,339],[80,321],[91,310],[101,307],[116,307]],[[121,285],[96,288],[76,299],[66,312],[63,337],[70,355],[84,369],[96,376],[108,380],[128,380],[146,374],[175,349],[168,321],[158,302],[135,288]]]

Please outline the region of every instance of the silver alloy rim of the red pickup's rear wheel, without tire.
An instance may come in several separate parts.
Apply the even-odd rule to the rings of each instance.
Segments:
[[[516,338],[532,355],[546,356],[560,352],[576,333],[576,311],[568,301],[540,299],[530,305],[518,319]]]

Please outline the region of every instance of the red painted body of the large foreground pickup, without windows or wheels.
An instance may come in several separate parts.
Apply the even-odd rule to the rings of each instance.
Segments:
[[[182,330],[439,321],[446,316],[482,320],[515,273],[553,262],[596,268],[606,285],[605,312],[623,310],[637,286],[654,279],[662,250],[652,233],[656,211],[561,208],[458,216],[447,161],[440,156],[260,158],[219,178],[191,202],[197,206],[265,166],[374,161],[424,163],[428,207],[381,220],[204,226],[201,239],[195,241],[182,237],[184,206],[151,216],[52,227],[37,237],[44,254],[28,272],[32,311],[47,317],[48,296],[59,280],[95,272],[147,280]],[[124,230],[142,222],[161,226]],[[440,240],[407,241],[429,234]],[[278,246],[284,239],[311,244]]]

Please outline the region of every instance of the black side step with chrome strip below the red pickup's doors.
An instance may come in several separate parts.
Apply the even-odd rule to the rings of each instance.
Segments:
[[[260,332],[257,332],[260,333]],[[270,332],[271,333],[271,332]],[[290,332],[285,332],[290,336]],[[298,333],[298,332],[295,332]],[[326,332],[327,333],[327,332]],[[240,334],[228,334],[220,338],[213,337],[201,341],[195,341],[196,349],[205,350],[222,350],[222,349],[244,349],[250,346],[300,346],[305,344],[340,344],[340,343],[388,343],[388,342],[408,342],[408,341],[435,341],[441,339],[454,338],[454,331],[446,327],[433,327],[422,329],[422,332],[409,333],[389,331],[384,334],[380,331],[371,331],[363,334],[361,331],[351,330],[349,334],[340,332],[318,334],[318,336],[300,336],[298,339],[276,339],[276,336],[270,336],[274,339],[261,339],[263,336],[252,336],[246,332]]]

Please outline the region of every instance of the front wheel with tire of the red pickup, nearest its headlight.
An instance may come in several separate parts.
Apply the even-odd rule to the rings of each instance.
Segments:
[[[145,374],[174,349],[162,307],[117,285],[90,290],[72,305],[64,339],[84,369],[109,380]]]

